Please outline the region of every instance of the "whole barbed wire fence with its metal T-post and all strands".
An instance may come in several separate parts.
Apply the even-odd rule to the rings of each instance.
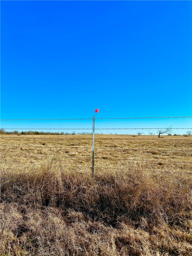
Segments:
[[[112,158],[112,157],[97,157],[95,156],[95,149],[96,150],[124,150],[124,151],[128,151],[128,150],[138,150],[138,151],[168,151],[168,152],[192,152],[192,150],[172,150],[172,149],[142,149],[142,148],[121,148],[121,147],[95,147],[95,130],[164,130],[167,128],[95,128],[95,120],[105,120],[105,119],[153,119],[153,118],[192,118],[192,116],[174,116],[174,117],[125,117],[125,118],[95,118],[95,116],[93,116],[93,118],[57,118],[57,119],[1,119],[0,121],[35,121],[35,120],[92,120],[93,121],[93,126],[92,128],[6,128],[7,130],[91,130],[92,131],[92,138],[87,138],[87,139],[91,139],[92,140],[92,147],[84,147],[84,146],[31,146],[31,145],[0,145],[1,149],[2,148],[11,148],[11,147],[20,147],[20,148],[56,148],[56,149],[63,149],[63,148],[72,148],[72,149],[90,149],[92,150],[92,155],[90,154],[90,157],[85,157],[85,156],[56,156],[56,155],[16,155],[16,154],[1,154],[1,156],[14,156],[14,157],[40,157],[40,158],[79,158],[79,159],[90,159],[92,160],[92,166],[77,166],[77,165],[63,165],[64,167],[73,167],[73,168],[90,168],[92,170],[92,176],[94,176],[94,170],[98,169],[98,168],[103,168],[103,169],[120,169],[117,167],[103,167],[103,166],[95,166],[94,165],[94,160],[95,159],[105,159],[105,160],[110,160],[110,161],[117,161],[117,160],[126,160],[126,161],[143,161],[143,162],[167,162],[167,163],[187,163],[187,164],[192,164],[192,162],[189,161],[164,161],[164,160],[151,160],[151,159],[130,159],[130,158]],[[172,130],[178,130],[178,129],[189,129],[192,130],[192,128],[172,128]],[[18,137],[8,137],[6,136],[6,139],[20,139]],[[24,139],[22,137],[22,139]],[[64,138],[46,138],[46,137],[27,137],[26,139],[59,139],[59,140],[64,140]],[[77,138],[76,139],[80,139],[82,140],[82,138]],[[102,140],[125,140],[125,138],[102,138]],[[148,138],[148,139],[140,139],[140,138],[126,138],[126,140],[139,140],[139,141],[149,141],[149,140],[158,140],[157,138]],[[163,139],[161,139],[163,140]],[[167,141],[167,139],[164,139],[165,141]],[[186,141],[186,139],[169,139],[169,141]],[[187,140],[189,141],[189,139]],[[192,141],[192,140],[191,140]],[[43,164],[37,164],[37,163],[18,163],[18,162],[4,162],[7,164],[18,164],[18,165],[38,165],[38,166],[42,166]],[[178,171],[161,171],[161,170],[151,170],[151,172],[165,172],[165,173],[186,173],[186,174],[192,174],[192,172],[178,172]]]

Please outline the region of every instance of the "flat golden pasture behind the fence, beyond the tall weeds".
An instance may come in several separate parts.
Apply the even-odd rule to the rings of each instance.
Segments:
[[[73,166],[92,166],[92,135],[3,135],[1,160],[45,164],[60,161]],[[184,136],[95,135],[95,172],[110,168],[148,171],[192,171],[192,139]],[[15,155],[15,156],[14,156]],[[86,174],[90,168],[74,167]]]

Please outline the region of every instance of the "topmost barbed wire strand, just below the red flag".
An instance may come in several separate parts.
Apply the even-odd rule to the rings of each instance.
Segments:
[[[191,118],[192,116],[165,116],[165,117],[111,117],[99,119],[152,119],[152,118]],[[27,120],[92,120],[92,118],[47,118],[47,119],[0,119],[0,121],[27,121]]]

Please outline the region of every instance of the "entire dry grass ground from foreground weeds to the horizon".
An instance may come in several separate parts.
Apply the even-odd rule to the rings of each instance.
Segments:
[[[191,136],[95,135],[94,178],[91,135],[1,145],[0,256],[192,255]]]

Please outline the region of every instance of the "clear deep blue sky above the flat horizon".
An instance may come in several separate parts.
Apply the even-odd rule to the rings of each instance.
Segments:
[[[101,118],[192,115],[191,1],[1,1],[1,119],[91,118],[95,108]],[[29,124],[64,125],[1,127]]]

